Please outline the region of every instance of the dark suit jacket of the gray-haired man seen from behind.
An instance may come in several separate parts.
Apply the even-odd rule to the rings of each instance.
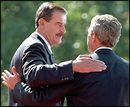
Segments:
[[[100,49],[92,58],[102,60],[107,69],[96,73],[75,73],[74,80],[46,89],[32,89],[19,82],[15,101],[24,105],[55,104],[65,96],[69,106],[128,106],[129,63],[110,49]],[[25,90],[26,89],[26,90]]]

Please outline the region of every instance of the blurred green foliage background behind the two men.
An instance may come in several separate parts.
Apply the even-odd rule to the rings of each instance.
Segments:
[[[87,28],[97,14],[112,14],[122,24],[121,38],[114,51],[129,61],[129,1],[53,1],[68,11],[63,42],[52,48],[57,63],[89,54]],[[9,69],[11,58],[34,30],[35,12],[42,1],[1,2],[1,72]],[[7,106],[8,90],[1,84],[1,105]]]

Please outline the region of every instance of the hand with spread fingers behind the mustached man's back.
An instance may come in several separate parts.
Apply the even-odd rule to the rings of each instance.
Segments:
[[[14,90],[15,84],[19,81],[21,81],[19,74],[16,72],[16,68],[12,67],[12,72],[14,75],[12,75],[8,70],[4,70],[2,73],[2,84],[6,85],[8,88],[11,88]]]

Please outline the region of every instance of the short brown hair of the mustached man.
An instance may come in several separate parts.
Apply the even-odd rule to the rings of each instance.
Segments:
[[[36,12],[35,16],[35,28],[38,28],[38,20],[40,18],[45,19],[47,22],[49,22],[52,19],[53,12],[55,10],[61,11],[64,14],[67,14],[67,11],[65,8],[61,7],[60,5],[57,5],[55,3],[50,3],[50,2],[44,2],[40,5]]]

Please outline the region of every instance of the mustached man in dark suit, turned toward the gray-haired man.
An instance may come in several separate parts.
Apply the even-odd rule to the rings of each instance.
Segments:
[[[36,31],[19,46],[12,58],[10,71],[12,66],[15,66],[21,81],[33,89],[40,87],[37,91],[49,88],[50,85],[60,85],[72,81],[74,72],[99,72],[106,68],[102,61],[80,56],[73,61],[55,64],[51,47],[62,41],[63,34],[66,32],[66,15],[67,12],[63,7],[54,3],[43,3],[36,12]],[[5,74],[3,73],[3,75]],[[12,83],[15,82],[12,81]],[[15,102],[13,94],[18,95],[17,92],[9,89],[9,106],[23,105]],[[39,96],[39,92],[36,96]],[[28,97],[25,98],[28,99]],[[32,98],[33,101],[34,99]],[[51,105],[51,102],[48,103],[48,101],[45,102],[45,105]],[[59,100],[52,104],[56,104],[56,102],[58,103]],[[25,105],[28,103],[31,102],[29,101]],[[35,104],[40,105],[39,101]]]

